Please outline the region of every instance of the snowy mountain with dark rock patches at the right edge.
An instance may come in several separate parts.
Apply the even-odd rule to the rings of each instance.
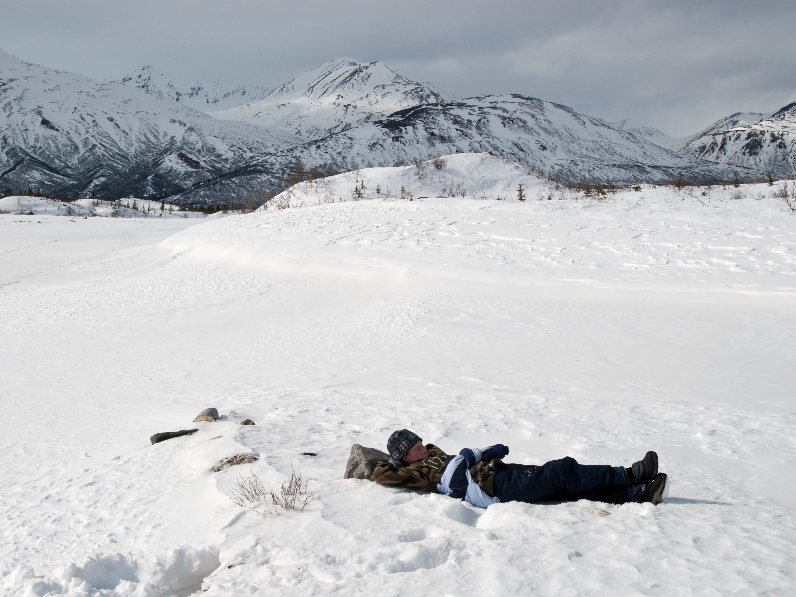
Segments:
[[[796,174],[796,103],[771,114],[736,112],[681,148],[694,158],[748,166],[778,177]]]

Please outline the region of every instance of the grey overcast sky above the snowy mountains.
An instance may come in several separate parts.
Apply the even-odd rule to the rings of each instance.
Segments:
[[[383,60],[455,97],[522,93],[668,135],[796,101],[794,0],[0,0],[0,48],[99,79],[152,64],[275,87]]]

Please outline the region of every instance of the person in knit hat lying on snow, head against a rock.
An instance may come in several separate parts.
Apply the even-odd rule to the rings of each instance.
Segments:
[[[665,497],[666,475],[657,472],[657,454],[627,468],[583,465],[575,458],[551,460],[541,466],[505,464],[509,448],[501,443],[478,450],[465,448],[450,456],[434,444],[423,446],[408,429],[395,431],[387,441],[389,462],[380,462],[373,479],[380,485],[431,491],[482,508],[499,501],[649,501]]]

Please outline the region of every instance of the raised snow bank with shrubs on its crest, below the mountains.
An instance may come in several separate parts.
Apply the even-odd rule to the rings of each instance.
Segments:
[[[468,173],[466,166],[479,159],[462,156],[454,174],[420,188],[450,186],[458,175],[470,188],[478,183],[490,194],[502,189],[505,196],[525,181],[531,197],[546,196],[542,181],[522,177],[498,160],[490,160],[486,175]],[[362,170],[361,180],[369,181],[366,188],[374,197],[377,187],[408,186],[413,169]],[[499,178],[501,170],[515,178]],[[322,186],[302,183],[287,193],[311,205],[322,198]],[[329,186],[338,193],[361,188],[361,182],[341,175]],[[746,198],[734,200],[732,192]],[[199,259],[230,259],[263,271],[378,272],[393,278],[416,273],[517,285],[796,290],[794,214],[771,197],[772,188],[711,189],[705,191],[712,193],[709,207],[700,193],[690,197],[658,187],[623,190],[601,201],[584,201],[580,194],[578,201],[524,203],[445,197],[321,203],[261,209],[189,228],[167,245]]]

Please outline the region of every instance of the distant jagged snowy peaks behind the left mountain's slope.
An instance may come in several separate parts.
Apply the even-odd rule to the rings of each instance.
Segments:
[[[226,110],[244,102],[261,100],[271,91],[257,86],[200,83],[168,75],[148,64],[116,82],[143,89],[162,100],[172,100],[203,112]]]

